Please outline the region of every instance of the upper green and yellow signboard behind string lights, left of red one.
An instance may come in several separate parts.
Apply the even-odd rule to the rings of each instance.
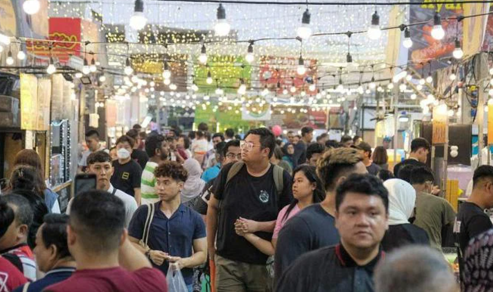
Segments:
[[[211,84],[207,83],[209,71],[213,80]],[[195,84],[201,93],[212,94],[217,86],[220,86],[224,93],[237,93],[241,79],[247,88],[250,87],[251,67],[243,56],[211,55],[207,66],[194,65],[194,76]]]

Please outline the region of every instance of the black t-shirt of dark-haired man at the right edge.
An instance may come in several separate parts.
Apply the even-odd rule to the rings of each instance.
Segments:
[[[486,215],[483,209],[471,202],[464,202],[459,205],[454,232],[458,237],[458,243],[462,255],[469,245],[471,238],[479,235],[493,227],[490,217]],[[457,232],[460,231],[459,234]]]

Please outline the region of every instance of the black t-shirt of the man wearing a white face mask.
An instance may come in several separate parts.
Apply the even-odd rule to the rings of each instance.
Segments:
[[[142,168],[139,163],[130,159],[125,164],[120,164],[118,160],[113,161],[114,173],[111,176],[113,187],[135,197],[134,188],[141,187]]]

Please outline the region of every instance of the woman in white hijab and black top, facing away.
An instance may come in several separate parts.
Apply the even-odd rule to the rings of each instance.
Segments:
[[[388,190],[388,230],[382,240],[382,248],[389,252],[395,248],[411,245],[429,245],[426,231],[409,223],[416,204],[414,187],[399,179],[384,182]]]

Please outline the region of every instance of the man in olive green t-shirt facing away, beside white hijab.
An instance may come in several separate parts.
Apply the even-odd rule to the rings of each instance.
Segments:
[[[416,219],[413,224],[426,231],[432,248],[441,251],[442,234],[452,231],[456,212],[447,200],[431,194],[435,177],[429,168],[414,168],[410,181],[416,190]]]

